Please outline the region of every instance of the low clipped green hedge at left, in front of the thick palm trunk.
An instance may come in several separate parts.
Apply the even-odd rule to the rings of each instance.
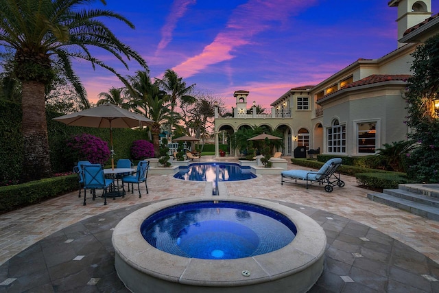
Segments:
[[[78,190],[78,176],[59,176],[0,187],[0,213],[43,202]]]

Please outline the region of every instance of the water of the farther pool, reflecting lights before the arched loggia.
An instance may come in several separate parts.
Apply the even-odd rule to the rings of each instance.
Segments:
[[[255,178],[250,167],[235,163],[195,163],[180,166],[175,178],[191,181],[236,181]]]

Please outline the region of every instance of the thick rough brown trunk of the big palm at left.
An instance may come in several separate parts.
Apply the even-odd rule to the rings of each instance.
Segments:
[[[45,86],[41,82],[22,82],[23,171],[25,181],[51,176],[49,140],[45,109]]]

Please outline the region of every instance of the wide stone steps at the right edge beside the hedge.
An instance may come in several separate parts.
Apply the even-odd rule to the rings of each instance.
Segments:
[[[368,199],[439,221],[439,184],[400,184],[398,189],[370,193]]]

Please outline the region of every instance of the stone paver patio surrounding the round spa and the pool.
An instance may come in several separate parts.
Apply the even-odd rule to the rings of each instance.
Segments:
[[[221,159],[236,161],[233,158]],[[204,156],[202,161],[213,161],[213,157]],[[288,169],[305,168],[288,163]],[[367,190],[357,187],[355,178],[342,176],[342,180],[346,186],[334,187],[332,193],[318,186],[305,189],[302,185],[281,185],[280,175],[260,175],[252,180],[224,185],[229,197],[278,201],[299,209],[322,225],[329,246],[324,274],[312,292],[366,292],[365,288],[368,292],[439,292],[439,222],[372,202],[366,198]],[[16,270],[29,266],[32,257],[38,255],[48,271],[46,277],[38,277],[43,283],[31,286],[39,288],[34,291],[79,292],[77,290],[82,287],[73,286],[78,284],[78,280],[67,285],[73,274],[69,261],[78,257],[74,254],[78,253],[79,248],[61,248],[64,244],[57,244],[58,255],[48,253],[46,248],[55,246],[54,241],[65,238],[67,243],[70,240],[78,245],[81,242],[74,240],[79,237],[78,234],[94,235],[88,241],[97,241],[108,254],[95,255],[94,261],[99,263],[101,259],[106,260],[102,267],[108,270],[113,267],[114,270],[111,233],[103,233],[100,229],[105,227],[106,231],[111,231],[124,215],[156,200],[202,196],[206,187],[206,183],[184,182],[167,175],[149,175],[147,182],[150,194],[143,192],[142,198],[134,191],[134,194],[128,194],[125,198],[109,199],[106,206],[98,198],[95,201],[87,200],[84,207],[78,192],[74,191],[0,215],[0,292],[31,290],[27,286],[31,286],[29,284],[36,277],[34,272]],[[70,238],[73,234],[75,237]],[[95,246],[88,245],[81,248],[84,255],[88,253],[86,247],[94,252],[91,247]],[[75,253],[71,250],[75,250]],[[29,267],[34,267],[38,261],[34,259],[32,263]],[[87,266],[94,265],[93,262],[87,263]],[[58,268],[58,274],[51,268]],[[90,272],[90,275],[94,273]],[[86,274],[86,283],[91,283],[84,284],[84,288],[88,288],[89,292],[126,292],[114,274],[107,272],[112,279],[107,278],[106,281],[93,281],[93,277],[89,278],[90,275]],[[43,281],[47,275],[50,276],[49,281]],[[22,279],[19,276],[23,276]]]

